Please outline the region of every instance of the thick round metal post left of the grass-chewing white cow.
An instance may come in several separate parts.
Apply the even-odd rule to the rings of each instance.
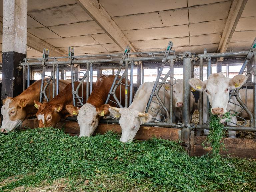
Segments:
[[[183,53],[183,107],[182,107],[182,119],[184,126],[182,127],[182,146],[186,151],[189,151],[190,143],[190,85],[188,80],[190,79],[191,70],[191,52],[186,51]]]

